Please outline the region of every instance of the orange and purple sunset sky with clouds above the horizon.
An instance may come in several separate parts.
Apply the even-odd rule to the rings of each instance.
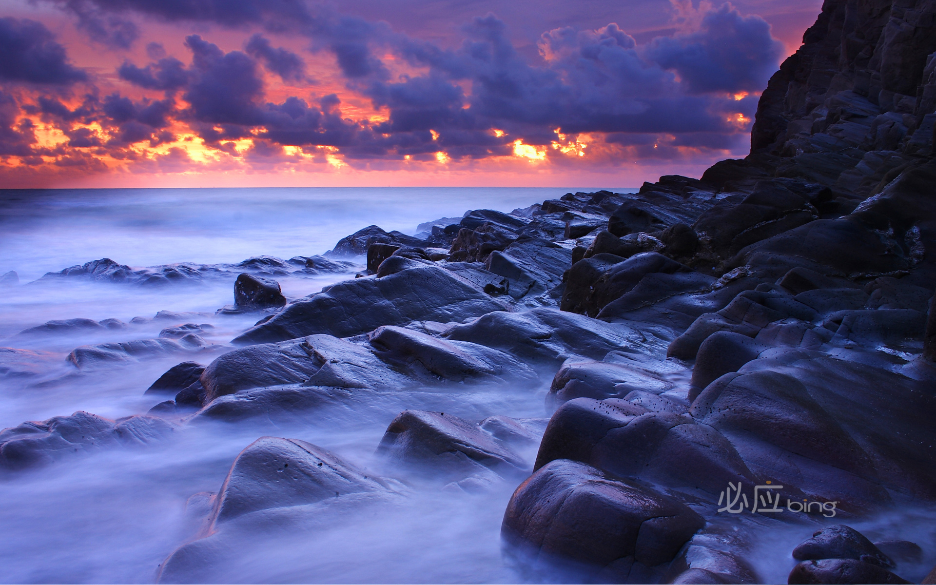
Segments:
[[[621,187],[747,154],[821,2],[3,7],[3,187]]]

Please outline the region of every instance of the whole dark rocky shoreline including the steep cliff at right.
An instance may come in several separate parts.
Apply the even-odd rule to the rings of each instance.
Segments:
[[[157,340],[77,348],[77,369],[213,360],[160,377],[148,392],[168,400],[147,415],[4,430],[0,463],[15,474],[200,421],[406,389],[548,384],[543,418],[402,412],[374,446],[387,477],[257,439],[217,493],[193,496],[201,527],[159,582],[210,579],[244,534],[413,497],[393,470],[467,493],[519,484],[502,536],[531,580],[760,582],[746,555],[791,524],[815,531],[792,551],[791,583],[923,578],[913,543],[831,524],[936,501],[934,19],[931,1],[826,0],[761,96],[752,154],[699,180],[475,210],[416,236],[366,227],[325,256],[144,271],[102,259],[47,275],[240,274],[226,310],[262,318],[223,346],[168,314]],[[272,280],[316,271],[358,273],[296,300]],[[132,325],[72,321],[21,335]],[[30,374],[16,370],[29,350],[4,351],[4,375]]]

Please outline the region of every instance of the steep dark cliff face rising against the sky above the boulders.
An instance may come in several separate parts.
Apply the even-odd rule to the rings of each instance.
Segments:
[[[879,192],[932,154],[934,57],[933,0],[826,0],[761,95],[746,162],[839,196]]]

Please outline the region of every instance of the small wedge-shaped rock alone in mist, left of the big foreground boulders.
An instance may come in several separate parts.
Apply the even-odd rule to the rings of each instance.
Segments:
[[[527,464],[478,425],[445,413],[403,411],[387,428],[377,454],[434,474],[464,477],[488,469],[499,475],[526,475]]]

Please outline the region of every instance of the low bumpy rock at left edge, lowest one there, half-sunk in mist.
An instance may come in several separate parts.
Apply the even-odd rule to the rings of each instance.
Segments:
[[[78,411],[70,417],[24,422],[0,431],[0,467],[21,470],[102,446],[152,443],[175,425],[159,417],[98,417]]]

